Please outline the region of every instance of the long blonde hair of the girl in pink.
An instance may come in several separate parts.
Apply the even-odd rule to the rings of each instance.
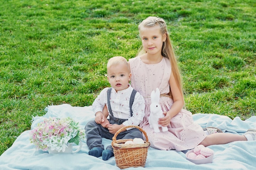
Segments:
[[[182,97],[183,97],[182,78],[180,75],[180,70],[179,70],[179,67],[177,64],[176,56],[175,56],[175,53],[173,50],[173,45],[171,44],[171,39],[170,39],[169,33],[167,31],[166,22],[162,18],[150,16],[150,17],[146,18],[145,20],[143,20],[139,24],[138,28],[140,31],[142,28],[151,27],[151,26],[155,26],[155,25],[159,25],[160,32],[162,33],[162,35],[166,34],[166,41],[163,42],[161,53],[162,53],[162,56],[164,56],[170,60],[171,71],[173,72],[174,78],[177,82],[177,85],[178,85],[180,92],[182,93]],[[146,53],[146,51],[144,50],[143,46],[141,45],[140,51],[137,56],[143,55],[145,53]],[[170,95],[173,98],[171,89],[170,89]],[[184,99],[184,97],[183,97],[183,99]]]

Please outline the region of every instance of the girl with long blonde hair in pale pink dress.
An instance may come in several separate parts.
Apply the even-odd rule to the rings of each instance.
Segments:
[[[129,60],[132,73],[131,86],[144,96],[145,117],[140,126],[146,131],[150,146],[161,150],[188,150],[199,144],[209,146],[232,141],[255,140],[256,131],[248,130],[245,135],[213,133],[206,135],[198,124],[193,123],[192,113],[182,109],[184,98],[182,81],[175,54],[162,18],[148,17],[139,24],[142,41],[138,56]],[[150,93],[159,88],[159,104],[164,117],[158,123],[168,131],[155,133],[149,127]]]

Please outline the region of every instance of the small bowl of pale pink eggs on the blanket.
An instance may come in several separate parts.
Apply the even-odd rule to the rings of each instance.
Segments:
[[[198,145],[192,150],[186,152],[186,159],[195,163],[212,163],[214,152],[210,148],[206,148],[203,145]]]

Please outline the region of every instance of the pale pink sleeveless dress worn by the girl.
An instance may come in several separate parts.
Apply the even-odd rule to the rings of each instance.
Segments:
[[[193,123],[192,113],[188,110],[180,110],[175,117],[171,119],[168,131],[155,133],[153,128],[149,127],[148,116],[150,114],[150,94],[158,87],[161,95],[170,91],[169,79],[171,75],[170,61],[164,57],[157,64],[145,64],[140,57],[129,60],[132,73],[131,86],[144,96],[146,102],[145,117],[140,126],[148,135],[150,146],[160,150],[188,150],[195,148],[206,137],[205,132],[198,124]],[[173,99],[170,97],[160,97],[159,104],[163,111],[168,111]]]

